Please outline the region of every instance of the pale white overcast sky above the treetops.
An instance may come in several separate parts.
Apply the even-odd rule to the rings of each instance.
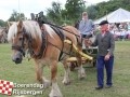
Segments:
[[[64,6],[66,0],[0,0],[0,19],[8,20],[14,11],[24,13],[27,18],[30,18],[30,13],[46,12],[51,8],[52,2],[60,2]],[[96,4],[108,0],[84,0],[88,5]]]

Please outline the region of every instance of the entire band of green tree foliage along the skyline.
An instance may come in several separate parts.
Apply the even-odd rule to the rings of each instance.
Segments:
[[[98,19],[119,8],[130,11],[130,0],[109,0],[107,2],[101,2],[95,5],[86,5],[84,0],[66,0],[64,9],[60,2],[52,2],[52,6],[47,9],[47,17],[49,20],[62,25],[62,24],[75,24],[78,19],[81,19],[81,13],[88,12],[89,18]],[[25,19],[24,13],[17,13],[13,11],[9,20],[17,22]],[[3,26],[4,22],[0,20],[0,26]]]

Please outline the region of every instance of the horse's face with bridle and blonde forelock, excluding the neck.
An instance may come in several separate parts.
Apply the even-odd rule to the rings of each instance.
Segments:
[[[15,64],[21,64],[27,46],[26,32],[22,20],[10,27],[8,39],[12,43],[12,60]]]

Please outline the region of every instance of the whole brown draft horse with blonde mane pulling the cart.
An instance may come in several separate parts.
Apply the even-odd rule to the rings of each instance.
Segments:
[[[73,26],[65,26],[64,29],[79,34],[79,31]],[[43,24],[43,31],[41,31],[37,22],[34,20],[25,20],[14,23],[8,33],[8,40],[12,43],[12,60],[15,64],[21,64],[23,60],[23,56],[25,52],[28,51],[30,56],[35,60],[36,65],[36,75],[37,80],[44,84],[44,87],[52,85],[52,89],[50,93],[50,97],[63,97],[57,82],[56,82],[56,73],[57,73],[57,63],[61,51],[63,51],[64,59],[62,60],[65,74],[64,74],[64,84],[68,84],[69,80],[69,63],[66,59],[69,57],[66,53],[70,52],[70,44],[64,43],[57,33],[50,27],[50,25]],[[66,39],[69,39],[72,43],[74,43],[79,50],[81,50],[81,45],[79,45],[77,41],[77,37],[70,32],[66,32],[63,30],[63,33]],[[47,37],[42,37],[42,33]],[[44,40],[47,39],[47,40]],[[80,38],[78,38],[80,39]],[[42,51],[42,45],[46,44],[44,51]],[[72,52],[74,48],[72,48]],[[39,57],[40,56],[40,57]],[[81,65],[81,57],[77,54],[78,59],[78,77],[79,79],[84,78],[86,73]],[[47,80],[43,75],[43,67],[48,65],[51,69],[51,81]]]

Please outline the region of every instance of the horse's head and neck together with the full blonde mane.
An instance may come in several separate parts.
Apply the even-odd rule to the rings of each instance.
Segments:
[[[12,43],[12,60],[15,64],[22,63],[26,51],[30,55],[31,53],[37,55],[42,42],[38,23],[34,20],[14,23],[9,29],[8,41]]]

